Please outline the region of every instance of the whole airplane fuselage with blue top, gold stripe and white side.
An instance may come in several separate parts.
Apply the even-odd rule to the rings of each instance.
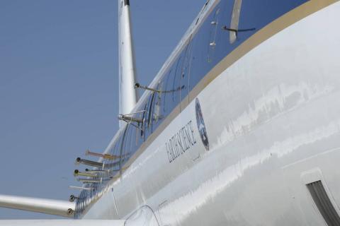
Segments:
[[[336,222],[339,21],[337,1],[209,1],[137,103],[142,122],[108,146],[118,173],[81,192],[77,218]]]

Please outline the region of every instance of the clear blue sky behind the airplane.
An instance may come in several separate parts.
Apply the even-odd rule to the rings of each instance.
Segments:
[[[152,81],[205,0],[130,0]],[[67,200],[74,160],[118,130],[117,0],[0,0],[0,194]],[[0,208],[0,219],[56,218]]]

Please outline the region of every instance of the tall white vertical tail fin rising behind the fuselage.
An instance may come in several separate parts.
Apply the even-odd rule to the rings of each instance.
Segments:
[[[130,114],[137,103],[135,53],[132,43],[130,1],[118,0],[119,114]],[[120,120],[120,127],[125,124]]]

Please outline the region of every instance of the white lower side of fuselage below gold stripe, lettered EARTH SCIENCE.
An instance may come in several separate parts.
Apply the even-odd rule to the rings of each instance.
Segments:
[[[338,210],[339,21],[337,2],[209,73],[84,218],[127,219],[147,207],[159,225],[326,225],[306,184],[321,180]],[[169,154],[187,124],[186,151]]]

